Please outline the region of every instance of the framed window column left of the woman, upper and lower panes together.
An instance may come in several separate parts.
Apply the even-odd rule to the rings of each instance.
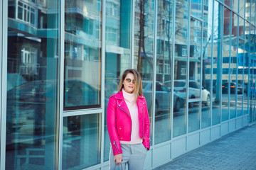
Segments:
[[[101,1],[65,1],[62,169],[100,164],[102,113],[76,111],[101,106],[101,14]]]

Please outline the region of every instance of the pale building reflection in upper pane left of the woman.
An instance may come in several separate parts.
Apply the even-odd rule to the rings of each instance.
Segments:
[[[100,70],[99,11],[99,1],[65,3],[66,79],[80,79],[92,86],[99,85],[99,78],[87,76],[87,70]]]

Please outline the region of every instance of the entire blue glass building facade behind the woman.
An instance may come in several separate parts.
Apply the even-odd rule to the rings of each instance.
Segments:
[[[154,169],[256,121],[255,0],[0,0],[0,169],[108,169],[142,75]]]

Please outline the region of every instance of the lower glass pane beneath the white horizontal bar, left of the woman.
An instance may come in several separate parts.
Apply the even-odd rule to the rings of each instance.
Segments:
[[[85,169],[100,164],[100,114],[63,118],[62,169]]]

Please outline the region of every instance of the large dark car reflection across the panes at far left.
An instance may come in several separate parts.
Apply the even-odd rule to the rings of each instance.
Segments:
[[[43,143],[48,132],[46,125],[56,110],[58,81],[28,81],[7,91],[6,145]],[[89,84],[65,81],[65,106],[99,105],[99,90]],[[54,115],[53,115],[54,117]],[[20,140],[13,140],[14,135]]]

